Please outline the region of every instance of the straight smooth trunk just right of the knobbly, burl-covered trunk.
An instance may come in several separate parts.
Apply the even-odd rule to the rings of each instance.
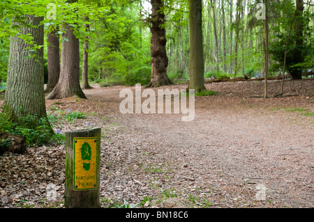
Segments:
[[[204,58],[202,39],[202,0],[190,0],[190,81],[188,89],[195,93],[206,90],[204,86]]]

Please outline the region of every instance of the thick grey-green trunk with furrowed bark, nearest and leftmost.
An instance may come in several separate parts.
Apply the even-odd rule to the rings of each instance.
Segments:
[[[40,22],[43,17],[26,15],[27,23],[38,26],[30,28],[23,26],[20,33],[33,36],[36,45],[44,44],[44,29]],[[13,25],[20,25],[13,23]],[[7,89],[4,99],[3,112],[10,120],[16,121],[18,117],[37,116],[47,118],[44,94],[44,69],[43,69],[43,47],[37,49],[36,56],[27,47],[31,47],[18,38],[18,35],[10,38],[10,56],[8,61]],[[29,56],[29,58],[25,58]]]

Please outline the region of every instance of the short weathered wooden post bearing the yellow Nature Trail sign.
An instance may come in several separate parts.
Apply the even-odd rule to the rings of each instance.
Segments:
[[[65,207],[100,207],[100,135],[100,128],[66,132]]]

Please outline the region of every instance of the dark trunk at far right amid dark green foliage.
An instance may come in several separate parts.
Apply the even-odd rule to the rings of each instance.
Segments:
[[[303,11],[304,11],[304,0],[296,1],[296,10],[295,10],[295,23],[294,23],[294,31],[296,34],[295,37],[295,49],[294,49],[294,63],[302,63],[304,62],[304,58],[302,56],[302,50],[304,48],[303,45],[303,29],[304,29],[304,19],[303,19]],[[295,67],[290,68],[292,79],[302,79],[302,68]]]

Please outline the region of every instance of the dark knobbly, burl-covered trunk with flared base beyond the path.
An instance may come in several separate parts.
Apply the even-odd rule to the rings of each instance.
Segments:
[[[172,84],[167,76],[167,50],[165,38],[165,14],[162,0],[151,0],[151,81],[147,87]]]

